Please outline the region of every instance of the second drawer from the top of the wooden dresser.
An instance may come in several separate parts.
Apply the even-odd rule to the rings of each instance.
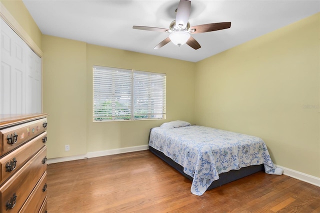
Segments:
[[[45,145],[46,131],[0,158],[0,184]]]

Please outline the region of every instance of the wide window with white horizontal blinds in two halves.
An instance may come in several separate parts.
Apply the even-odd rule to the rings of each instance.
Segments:
[[[93,121],[165,118],[163,73],[93,66]]]

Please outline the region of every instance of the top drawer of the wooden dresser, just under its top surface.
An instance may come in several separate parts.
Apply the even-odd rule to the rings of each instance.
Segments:
[[[41,118],[0,130],[0,155],[46,130],[47,119]]]

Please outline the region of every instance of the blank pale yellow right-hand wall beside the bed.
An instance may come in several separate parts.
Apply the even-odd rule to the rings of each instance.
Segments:
[[[259,136],[276,164],[320,177],[319,14],[197,62],[196,123]]]

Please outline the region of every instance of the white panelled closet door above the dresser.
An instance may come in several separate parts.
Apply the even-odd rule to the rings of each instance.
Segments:
[[[41,58],[0,21],[0,113],[41,112]]]

